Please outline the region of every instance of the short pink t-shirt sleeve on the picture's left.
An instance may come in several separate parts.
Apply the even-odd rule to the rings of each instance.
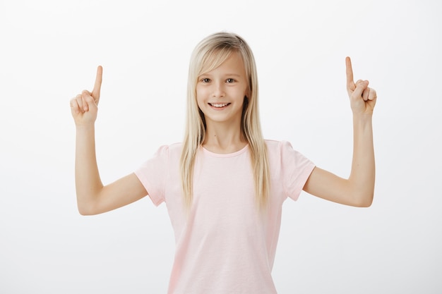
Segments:
[[[156,206],[165,201],[165,183],[169,161],[169,147],[162,146],[154,156],[136,169],[135,174]]]

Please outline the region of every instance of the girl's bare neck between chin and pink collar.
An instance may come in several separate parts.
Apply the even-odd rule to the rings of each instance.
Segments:
[[[222,128],[221,126],[205,129],[203,147],[213,153],[229,154],[243,149],[247,141],[239,128]]]

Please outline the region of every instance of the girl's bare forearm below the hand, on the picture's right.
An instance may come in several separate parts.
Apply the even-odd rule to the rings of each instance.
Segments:
[[[350,186],[354,197],[364,206],[373,201],[375,160],[371,115],[353,117],[353,160]]]

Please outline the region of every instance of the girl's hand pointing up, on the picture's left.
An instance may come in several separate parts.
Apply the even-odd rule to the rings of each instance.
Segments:
[[[97,105],[100,101],[103,68],[98,66],[97,77],[92,92],[83,90],[75,98],[71,99],[71,114],[76,125],[90,125],[97,119]]]

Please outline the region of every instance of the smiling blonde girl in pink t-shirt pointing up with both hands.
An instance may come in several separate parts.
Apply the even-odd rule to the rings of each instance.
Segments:
[[[71,100],[76,123],[76,193],[80,214],[100,214],[149,195],[167,204],[176,240],[168,293],[276,293],[271,271],[282,203],[301,190],[325,200],[368,207],[374,194],[371,117],[376,92],[353,81],[354,154],[348,179],[316,167],[289,142],[264,140],[258,78],[244,39],[220,32],[191,56],[184,142],[160,147],[134,173],[102,185],[94,122],[102,68],[92,92]]]

